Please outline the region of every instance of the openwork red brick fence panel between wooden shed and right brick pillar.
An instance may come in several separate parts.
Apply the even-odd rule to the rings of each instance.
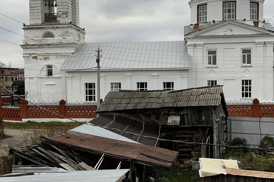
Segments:
[[[253,105],[227,105],[229,116],[253,117]]]

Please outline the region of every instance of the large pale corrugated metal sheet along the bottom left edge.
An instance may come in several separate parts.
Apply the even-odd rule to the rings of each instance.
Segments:
[[[120,182],[129,169],[42,173],[26,176],[1,177],[0,182]]]

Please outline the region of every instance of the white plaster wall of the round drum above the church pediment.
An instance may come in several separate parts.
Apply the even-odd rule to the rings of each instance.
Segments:
[[[192,0],[189,2],[191,9],[191,24],[197,23],[197,5],[207,4],[207,22],[223,21],[223,0]],[[259,27],[263,26],[263,0],[252,2],[259,3]],[[249,16],[250,0],[236,0],[236,20],[245,24],[253,25],[254,20]],[[243,21],[243,19],[246,19]],[[255,20],[256,21],[256,20]],[[203,23],[202,23],[203,24]],[[206,23],[205,23],[206,24]]]

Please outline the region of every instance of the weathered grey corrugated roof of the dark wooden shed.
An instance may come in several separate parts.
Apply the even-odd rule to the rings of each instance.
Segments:
[[[223,86],[208,86],[186,90],[110,91],[96,112],[170,107],[218,106]]]

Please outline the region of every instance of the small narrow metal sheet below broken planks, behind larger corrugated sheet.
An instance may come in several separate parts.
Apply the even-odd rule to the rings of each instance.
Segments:
[[[64,173],[69,171],[57,167],[17,167],[12,168],[12,173]]]

